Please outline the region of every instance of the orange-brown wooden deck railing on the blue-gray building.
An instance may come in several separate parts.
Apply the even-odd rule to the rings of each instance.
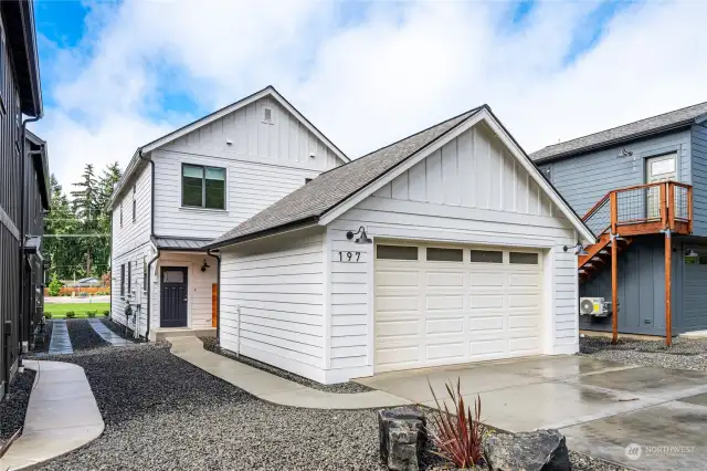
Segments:
[[[582,218],[598,237],[693,232],[693,187],[677,181],[636,185],[609,191]]]

